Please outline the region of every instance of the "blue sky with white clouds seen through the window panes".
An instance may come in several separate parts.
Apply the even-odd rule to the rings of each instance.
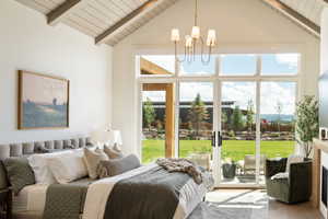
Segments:
[[[263,54],[261,56],[263,76],[291,76],[297,73],[300,55],[297,54]],[[174,56],[143,56],[143,58],[174,72]],[[255,55],[221,55],[220,72],[225,76],[253,76],[256,71]],[[208,66],[196,57],[192,64],[183,62],[180,73],[185,76],[209,76],[215,73],[215,59]],[[213,100],[213,83],[181,82],[180,101],[192,101],[200,93],[203,101]],[[277,114],[278,103],[282,104],[282,114],[295,112],[296,84],[294,82],[261,82],[261,114]],[[147,92],[143,100],[164,101],[165,92]],[[247,107],[249,100],[256,103],[255,82],[222,82],[222,101],[235,101],[242,108]]]

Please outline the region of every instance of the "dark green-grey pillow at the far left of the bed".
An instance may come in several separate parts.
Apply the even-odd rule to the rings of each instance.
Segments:
[[[35,184],[35,176],[26,158],[9,158],[3,164],[15,195],[26,185]]]

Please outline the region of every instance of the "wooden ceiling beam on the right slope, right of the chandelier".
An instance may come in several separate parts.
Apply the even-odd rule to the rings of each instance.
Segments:
[[[293,21],[297,22],[302,27],[304,27],[306,31],[311,32],[317,37],[320,37],[320,26],[318,26],[316,23],[311,21],[309,19],[305,18],[294,9],[290,8],[288,4],[283,3],[280,0],[262,0],[267,4],[271,5],[272,8],[277,9],[278,11],[282,12]],[[324,0],[328,1],[328,0]]]

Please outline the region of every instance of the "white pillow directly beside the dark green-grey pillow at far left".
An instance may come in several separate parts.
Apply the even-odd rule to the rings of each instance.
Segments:
[[[54,157],[60,157],[71,151],[60,151],[56,153],[33,154],[28,158],[28,163],[34,172],[37,184],[54,184],[57,183],[51,170],[48,166],[48,160]]]

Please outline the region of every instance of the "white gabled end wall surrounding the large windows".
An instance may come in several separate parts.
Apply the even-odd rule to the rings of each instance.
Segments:
[[[199,24],[218,32],[218,53],[298,51],[302,54],[301,93],[317,92],[319,39],[259,0],[203,0]],[[138,100],[134,55],[174,53],[169,32],[185,34],[192,26],[194,4],[180,0],[114,47],[113,125],[122,130],[124,149],[138,150]]]

